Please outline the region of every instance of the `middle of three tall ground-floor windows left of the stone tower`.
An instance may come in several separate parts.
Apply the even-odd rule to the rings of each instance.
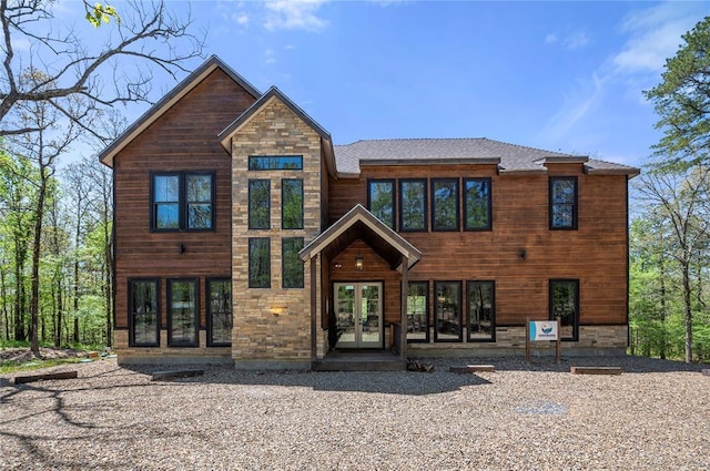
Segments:
[[[168,345],[196,347],[197,340],[197,280],[168,280]]]

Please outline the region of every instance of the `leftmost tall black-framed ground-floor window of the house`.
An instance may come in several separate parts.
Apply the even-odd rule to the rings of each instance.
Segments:
[[[160,298],[156,279],[129,280],[129,345],[158,347],[160,345]]]

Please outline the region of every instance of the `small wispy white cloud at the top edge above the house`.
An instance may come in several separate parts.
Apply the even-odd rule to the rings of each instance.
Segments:
[[[268,12],[264,28],[267,30],[320,31],[327,21],[317,16],[326,0],[271,0],[265,3]]]

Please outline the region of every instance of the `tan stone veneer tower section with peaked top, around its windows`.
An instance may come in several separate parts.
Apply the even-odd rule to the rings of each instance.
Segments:
[[[250,155],[303,155],[303,171],[248,171]],[[304,287],[282,288],[282,238],[321,232],[321,137],[278,99],[234,134],[232,140],[232,357],[236,368],[310,368],[311,264],[304,265]],[[271,229],[248,229],[248,180],[271,180]],[[281,228],[281,180],[303,178],[304,228]],[[271,289],[248,287],[248,238],[271,239]],[[321,273],[320,262],[316,274]],[[321,325],[320,303],[316,306]],[[318,336],[321,337],[321,336]],[[318,355],[323,355],[318,339]]]

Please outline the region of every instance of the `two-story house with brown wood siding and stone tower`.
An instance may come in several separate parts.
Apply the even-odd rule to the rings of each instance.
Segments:
[[[310,368],[328,351],[628,342],[637,168],[488,139],[358,141],[211,58],[100,155],[121,362]]]

